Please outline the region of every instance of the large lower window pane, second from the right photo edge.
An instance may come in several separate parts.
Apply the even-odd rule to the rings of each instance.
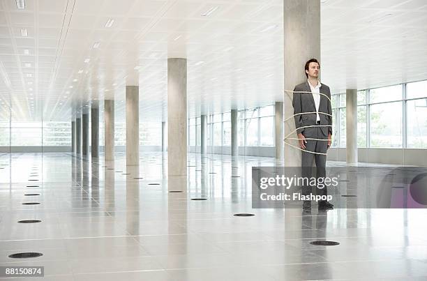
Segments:
[[[402,102],[370,106],[370,147],[402,147]]]

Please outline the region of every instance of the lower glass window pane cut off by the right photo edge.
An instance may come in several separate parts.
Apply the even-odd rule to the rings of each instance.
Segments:
[[[407,147],[427,148],[427,98],[407,101]]]

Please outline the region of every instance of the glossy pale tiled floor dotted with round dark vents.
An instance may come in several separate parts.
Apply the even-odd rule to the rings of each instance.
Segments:
[[[275,162],[243,156],[189,154],[188,192],[170,193],[166,158],[0,155],[0,266],[45,266],[45,280],[427,280],[425,209],[252,209],[251,167]],[[310,245],[325,238],[340,245]]]

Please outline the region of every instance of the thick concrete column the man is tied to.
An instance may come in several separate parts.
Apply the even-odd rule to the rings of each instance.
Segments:
[[[292,91],[294,86],[307,80],[304,71],[306,61],[311,58],[320,60],[320,0],[283,0],[283,33],[286,38],[283,48],[284,89]],[[294,115],[292,93],[285,91],[283,102],[284,119],[287,120]],[[284,123],[284,135],[297,138],[294,119]],[[285,142],[299,147],[297,139],[285,139]],[[301,151],[292,146],[284,144],[284,164],[299,167]]]

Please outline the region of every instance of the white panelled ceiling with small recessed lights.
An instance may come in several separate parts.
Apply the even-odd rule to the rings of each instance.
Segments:
[[[426,12],[425,0],[322,3],[322,82],[427,79]],[[0,0],[0,121],[9,106],[13,120],[70,120],[88,100],[123,100],[126,84],[140,85],[142,120],[166,119],[168,57],[188,59],[189,116],[271,104],[283,98],[282,15],[283,0]]]

